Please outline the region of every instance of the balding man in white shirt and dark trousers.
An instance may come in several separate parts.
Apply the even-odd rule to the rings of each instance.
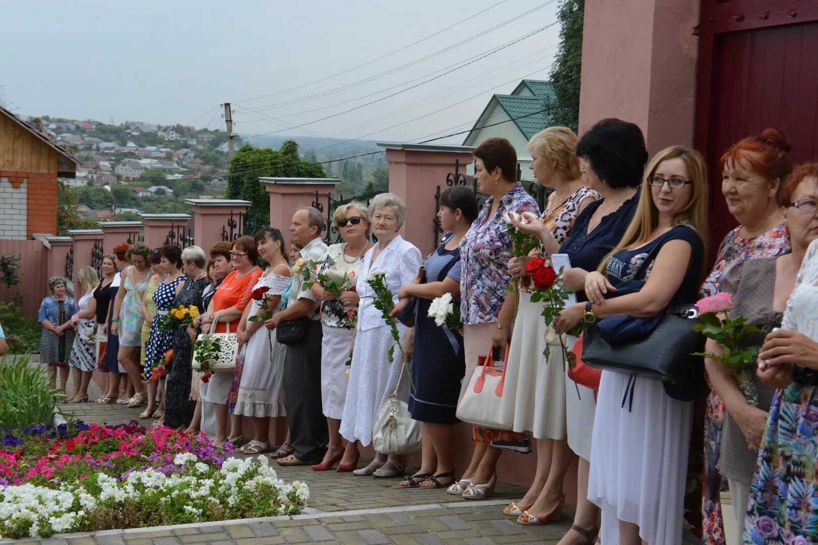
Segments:
[[[295,211],[290,235],[299,255],[305,260],[319,261],[326,253],[321,231],[326,221],[316,208],[303,207]],[[296,320],[303,329],[301,338],[287,346],[284,361],[287,425],[294,452],[279,458],[282,466],[303,466],[321,462],[326,453],[326,418],[321,409],[321,313],[312,290],[303,286],[303,278],[293,275],[287,307],[273,318],[276,327]]]

